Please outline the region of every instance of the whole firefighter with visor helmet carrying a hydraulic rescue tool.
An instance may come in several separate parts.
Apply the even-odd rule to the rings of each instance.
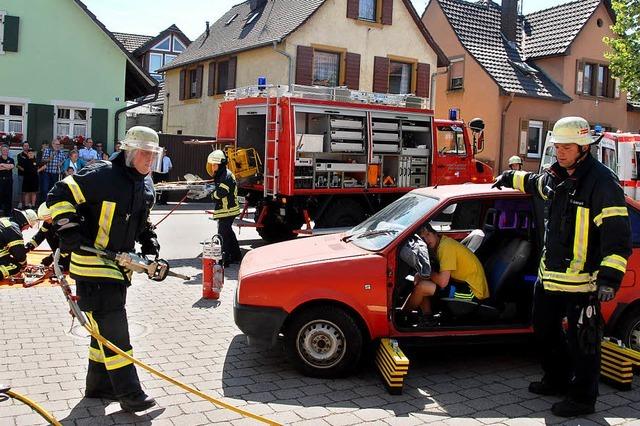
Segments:
[[[122,150],[111,161],[96,161],[56,183],[47,197],[60,250],[71,252],[69,273],[76,281],[78,305],[95,330],[132,354],[125,301],[131,272],[81,246],[132,252],[157,258],[160,245],[149,213],[155,200],[151,172],[162,164],[158,134],[144,126],[127,131]],[[155,405],[145,394],[133,363],[93,337],[85,396],[118,400],[137,412]]]

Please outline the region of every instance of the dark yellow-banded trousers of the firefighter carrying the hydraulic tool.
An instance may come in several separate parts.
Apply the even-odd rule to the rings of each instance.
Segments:
[[[89,322],[111,343],[133,354],[125,303],[127,287],[116,282],[77,282],[78,305]],[[127,397],[142,391],[133,363],[91,337],[86,395]]]

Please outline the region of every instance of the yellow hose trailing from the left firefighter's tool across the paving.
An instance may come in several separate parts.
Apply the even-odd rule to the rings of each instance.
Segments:
[[[73,294],[73,292],[71,291],[71,287],[69,287],[69,283],[67,282],[64,274],[62,273],[62,270],[60,269],[60,266],[58,265],[58,259],[60,257],[60,249],[56,250],[55,252],[55,256],[54,256],[54,260],[53,260],[53,267],[54,267],[54,271],[56,274],[56,277],[58,277],[58,281],[60,282],[60,288],[62,289],[62,293],[64,294],[65,299],[67,300],[67,302],[69,303],[69,309],[70,309],[70,314],[72,317],[76,318],[78,320],[78,322],[80,323],[80,325],[82,325],[88,332],[89,334],[91,334],[91,336],[93,336],[94,339],[96,339],[98,342],[100,342],[102,345],[106,346],[107,348],[109,348],[109,350],[113,351],[114,353],[117,353],[118,355],[126,358],[127,360],[133,362],[135,365],[147,370],[149,373],[160,377],[163,380],[166,380],[167,382],[174,384],[176,386],[178,386],[181,389],[184,389],[185,391],[192,393],[194,395],[199,396],[200,398],[211,402],[214,405],[217,405],[218,407],[221,408],[226,408],[227,410],[233,411],[235,413],[238,413],[242,416],[245,417],[249,417],[252,418],[254,420],[258,420],[260,422],[269,424],[269,425],[280,425],[280,423],[277,423],[273,420],[269,420],[265,417],[259,416],[257,414],[253,414],[249,411],[243,410],[241,408],[238,407],[234,407],[231,404],[228,404],[224,401],[221,401],[217,398],[214,398],[210,395],[207,395],[204,392],[201,392],[185,383],[182,383],[172,377],[167,376],[166,374],[162,373],[161,371],[156,370],[155,368],[145,364],[144,362],[137,360],[136,358],[132,357],[131,355],[129,355],[128,353],[124,352],[122,349],[120,349],[119,347],[117,347],[116,345],[114,345],[113,343],[111,343],[110,341],[108,341],[107,339],[105,339],[104,337],[102,337],[100,335],[100,333],[98,333],[96,330],[93,329],[93,327],[91,326],[91,324],[89,323],[89,321],[87,320],[87,317],[85,316],[84,312],[82,312],[82,310],[80,310],[80,307],[78,306],[78,297],[75,296]]]

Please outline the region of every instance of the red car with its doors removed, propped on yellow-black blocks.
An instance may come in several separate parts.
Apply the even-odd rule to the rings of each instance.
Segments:
[[[639,350],[640,204],[627,199],[627,205],[634,249],[622,286],[602,305],[602,313],[605,334]],[[422,188],[346,233],[252,250],[238,277],[236,324],[252,344],[273,345],[283,335],[292,363],[304,374],[321,377],[353,371],[367,343],[381,337],[532,333],[543,234],[540,207],[527,194],[488,184]],[[425,221],[456,240],[483,231],[476,255],[485,267],[490,298],[483,304],[441,299],[440,322],[417,328],[397,315],[415,273],[398,254]]]

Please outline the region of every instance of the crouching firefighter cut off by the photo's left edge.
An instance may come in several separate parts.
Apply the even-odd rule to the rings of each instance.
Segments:
[[[17,275],[27,265],[22,231],[38,224],[31,209],[14,209],[10,217],[0,218],[0,279]]]

